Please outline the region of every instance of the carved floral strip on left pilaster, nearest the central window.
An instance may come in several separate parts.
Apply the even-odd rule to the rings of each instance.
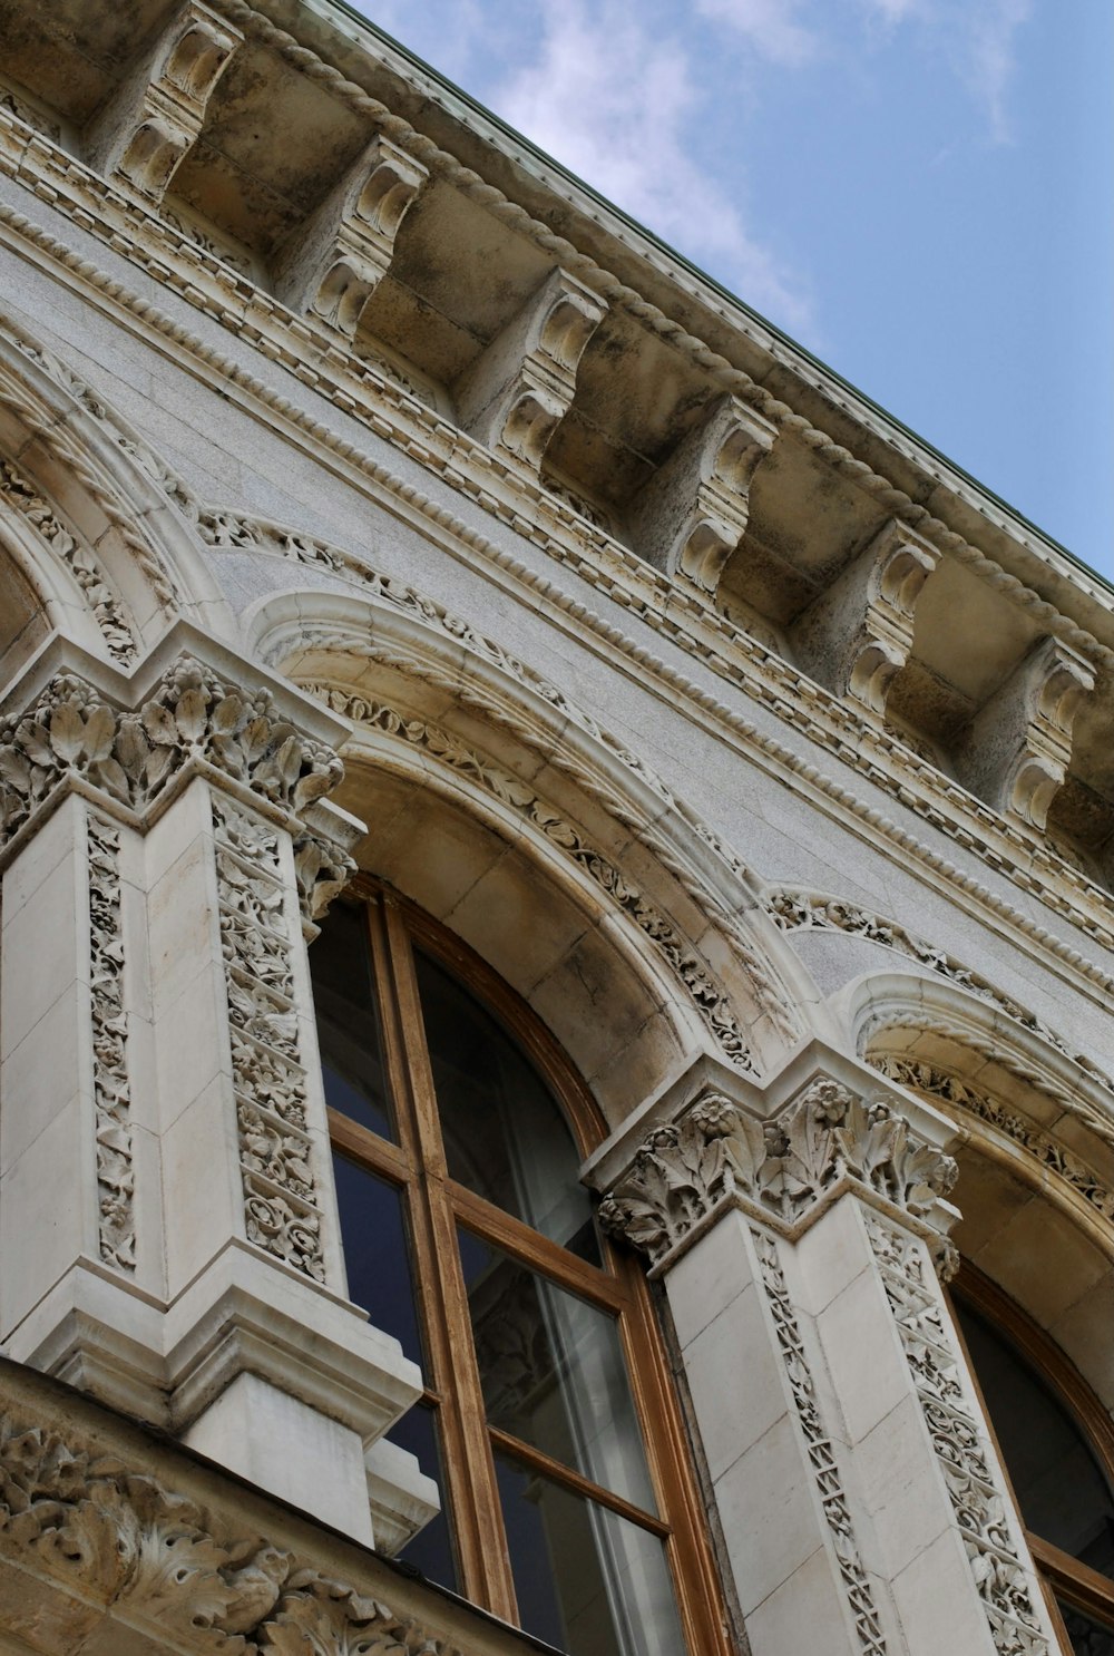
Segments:
[[[227,800],[214,831],[245,1234],[324,1282],[278,835]]]

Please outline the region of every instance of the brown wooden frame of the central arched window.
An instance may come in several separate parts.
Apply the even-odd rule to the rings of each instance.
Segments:
[[[367,924],[396,1141],[379,1138],[334,1110],[329,1110],[329,1136],[344,1158],[404,1194],[425,1345],[424,1401],[437,1411],[442,1500],[450,1509],[460,1590],[493,1615],[518,1623],[495,1479],[493,1449],[500,1449],[526,1469],[655,1535],[669,1562],[687,1649],[692,1656],[730,1656],[727,1613],[685,1426],[639,1264],[612,1249],[607,1239],[601,1239],[603,1268],[581,1260],[449,1176],[412,944],[473,989],[510,1030],[559,1100],[581,1158],[606,1138],[607,1126],[536,1013],[472,949],[369,876],[358,876],[349,894]],[[459,1224],[558,1287],[614,1315],[657,1515],[488,1424],[455,1235]]]

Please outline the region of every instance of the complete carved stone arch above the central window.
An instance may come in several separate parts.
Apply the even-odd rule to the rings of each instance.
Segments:
[[[545,681],[444,616],[348,593],[243,616],[348,714],[363,861],[535,1005],[612,1121],[699,1053],[758,1075],[798,1040],[788,951],[742,864]]]

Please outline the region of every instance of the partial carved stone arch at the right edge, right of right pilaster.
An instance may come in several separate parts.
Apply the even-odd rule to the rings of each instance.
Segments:
[[[856,989],[861,1055],[958,1128],[962,1257],[1114,1409],[1114,1093],[962,990],[896,975]]]

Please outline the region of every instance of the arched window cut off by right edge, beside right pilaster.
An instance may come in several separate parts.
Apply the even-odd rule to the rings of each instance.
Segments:
[[[1114,1656],[1111,1418],[1054,1341],[967,1265],[953,1303],[1064,1651]]]

